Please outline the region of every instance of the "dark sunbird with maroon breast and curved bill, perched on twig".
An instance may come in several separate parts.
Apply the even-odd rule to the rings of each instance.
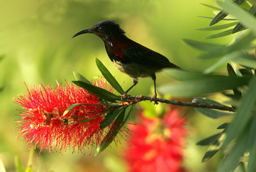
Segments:
[[[90,29],[77,32],[72,38],[86,33],[99,36],[104,41],[108,57],[116,68],[132,78],[132,86],[124,92],[121,100],[138,83],[139,77],[151,77],[154,82],[154,94],[151,97],[151,101],[158,104],[156,73],[163,68],[181,69],[170,62],[164,55],[127,38],[125,31],[113,20],[98,22]]]

